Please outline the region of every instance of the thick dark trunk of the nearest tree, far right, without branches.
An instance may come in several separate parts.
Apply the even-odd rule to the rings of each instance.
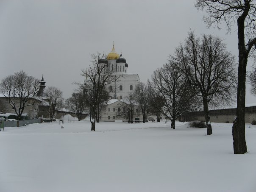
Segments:
[[[237,85],[237,117],[234,119],[232,127],[234,154],[244,154],[247,152],[245,141],[245,83],[246,65],[248,54],[245,50],[244,19],[237,19],[238,25],[238,85]]]

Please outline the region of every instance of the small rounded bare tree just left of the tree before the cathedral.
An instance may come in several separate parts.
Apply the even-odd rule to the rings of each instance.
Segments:
[[[86,107],[86,100],[83,92],[80,91],[72,93],[72,97],[68,98],[65,103],[68,108],[75,113],[78,121],[81,121],[83,111]]]

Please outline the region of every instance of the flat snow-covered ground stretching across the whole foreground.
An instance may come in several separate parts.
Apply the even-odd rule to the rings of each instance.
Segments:
[[[0,132],[0,192],[255,192],[256,126],[233,154],[232,124],[64,121]],[[249,128],[250,126],[250,128]]]

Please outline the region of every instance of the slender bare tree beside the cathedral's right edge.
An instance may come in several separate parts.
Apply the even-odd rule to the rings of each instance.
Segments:
[[[142,82],[138,83],[135,88],[134,98],[142,110],[143,122],[146,122],[147,120],[147,111],[149,108],[150,96],[151,96],[150,86],[145,85],[145,83],[142,83]]]

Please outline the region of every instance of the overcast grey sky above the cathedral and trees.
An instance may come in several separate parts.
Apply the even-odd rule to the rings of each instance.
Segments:
[[[115,49],[146,82],[191,28],[225,39],[237,56],[237,31],[206,28],[194,0],[0,0],[0,78],[23,70],[71,96],[90,54]],[[248,64],[250,70],[252,62]],[[249,89],[249,86],[247,86]],[[255,103],[247,91],[246,103]]]

